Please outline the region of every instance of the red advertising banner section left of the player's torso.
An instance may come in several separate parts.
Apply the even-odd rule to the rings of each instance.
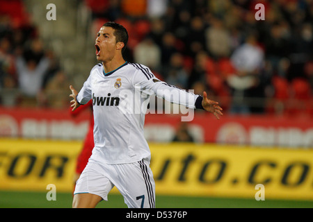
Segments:
[[[70,110],[0,108],[0,137],[82,139],[90,113],[72,117]]]

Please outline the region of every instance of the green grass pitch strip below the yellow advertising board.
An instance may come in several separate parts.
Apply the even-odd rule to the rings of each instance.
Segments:
[[[48,201],[46,192],[0,191],[0,207],[8,208],[66,208],[72,206],[72,194],[57,193],[56,200]],[[186,196],[156,196],[157,208],[312,208],[313,201],[304,200],[254,200],[243,198],[204,198]],[[99,208],[127,208],[120,194],[110,194],[109,201],[102,201]]]

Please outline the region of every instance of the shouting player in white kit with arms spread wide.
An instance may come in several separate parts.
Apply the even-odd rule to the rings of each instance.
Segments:
[[[95,147],[77,180],[72,207],[95,207],[107,200],[114,186],[128,207],[155,207],[151,153],[143,135],[147,98],[152,92],[172,103],[212,112],[217,119],[222,115],[222,108],[206,92],[203,97],[186,92],[159,80],[144,65],[126,62],[122,51],[127,41],[123,26],[104,24],[95,40],[97,60],[102,63],[91,69],[79,93],[70,85],[72,111],[92,99],[95,120]],[[138,96],[136,90],[142,94]],[[174,90],[179,94],[163,93]]]

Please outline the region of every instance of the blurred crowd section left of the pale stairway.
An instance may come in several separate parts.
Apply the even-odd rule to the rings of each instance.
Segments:
[[[57,98],[68,88],[65,79],[23,1],[0,1],[0,104],[64,108],[67,101]]]

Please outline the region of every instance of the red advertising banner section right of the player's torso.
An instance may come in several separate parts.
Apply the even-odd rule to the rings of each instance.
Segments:
[[[195,142],[313,148],[313,119],[307,117],[224,115],[218,120],[195,113],[193,121],[186,123]],[[181,124],[177,116],[147,114],[146,138],[166,142]]]

